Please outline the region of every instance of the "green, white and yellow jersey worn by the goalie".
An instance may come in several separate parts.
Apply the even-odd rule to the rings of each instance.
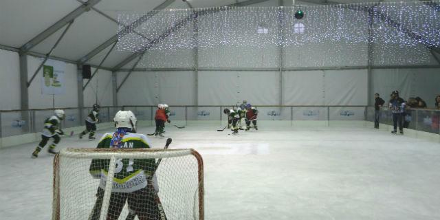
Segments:
[[[111,148],[113,133],[102,136],[97,148]],[[120,140],[120,148],[151,148],[145,135],[126,133]],[[92,176],[100,178],[100,188],[104,189],[109,171],[110,159],[92,159],[89,171]],[[147,186],[147,178],[153,175],[155,159],[117,158],[113,177],[112,192],[134,192]]]

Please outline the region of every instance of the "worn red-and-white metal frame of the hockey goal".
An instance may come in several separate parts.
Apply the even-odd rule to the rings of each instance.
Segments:
[[[123,155],[123,156],[121,156]],[[181,157],[186,155],[192,155],[197,159],[197,177],[199,182],[199,220],[204,219],[204,188],[203,188],[203,159],[201,155],[192,148],[188,149],[151,149],[151,148],[65,148],[59,153],[56,153],[54,157],[54,178],[53,178],[53,199],[52,199],[52,220],[60,220],[60,159],[61,157],[70,158],[90,158],[90,159],[111,159],[116,157],[124,157],[128,159],[161,159],[168,157]],[[115,165],[109,167],[109,173],[113,172]],[[110,172],[111,171],[111,172]],[[113,175],[109,175],[107,178],[113,179]],[[107,181],[106,189],[111,188],[111,181]],[[110,189],[108,188],[108,189]],[[105,190],[107,194],[109,190]],[[104,197],[105,197],[104,194]],[[108,197],[110,194],[108,193]],[[108,208],[108,207],[107,207]],[[102,208],[102,212],[107,212],[107,208]]]

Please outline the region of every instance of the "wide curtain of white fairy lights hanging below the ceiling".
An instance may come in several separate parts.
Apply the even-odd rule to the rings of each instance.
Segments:
[[[362,65],[365,63],[364,54],[367,54],[366,44],[369,43],[368,8],[373,8],[374,15],[371,43],[374,45],[375,64],[423,64],[429,61],[430,54],[426,47],[421,45],[440,46],[440,16],[436,10],[422,2],[391,2],[377,5],[301,5],[300,8],[293,5],[280,8],[161,10],[148,21],[133,28],[146,38],[130,32],[119,36],[117,48],[120,51],[140,51],[148,46],[151,40],[157,39],[188,17],[188,22],[176,28],[175,32],[168,33],[164,39],[158,39],[148,50],[144,58],[146,60],[142,61],[141,65],[186,66],[189,60],[177,59],[170,63],[170,57],[176,56],[175,54],[190,54],[190,51],[197,47],[199,54],[203,54],[199,59],[207,59],[205,63],[210,63],[206,64],[206,67],[276,67],[279,62],[273,54],[276,54],[279,45],[283,45],[287,55],[290,50],[301,50],[303,56],[309,56],[296,57],[295,60],[294,56],[298,55],[290,54],[292,57],[283,62],[287,66],[297,66],[298,59],[307,61],[307,65],[331,65],[338,62]],[[296,19],[298,11],[301,11],[303,16],[307,15],[303,19]],[[197,16],[198,13],[203,15]],[[144,15],[120,12],[118,21],[122,25],[118,27],[118,32],[125,28],[124,25],[130,25]],[[384,21],[386,17],[391,20]],[[199,31],[197,41],[193,33],[195,19]],[[280,25],[283,28],[282,41],[278,36]],[[298,31],[298,27],[301,27],[301,31]],[[412,38],[408,36],[408,32],[421,38]],[[311,50],[324,50],[322,52],[331,57],[316,59],[316,56],[307,55],[309,52],[314,54]],[[347,54],[351,53],[359,56],[353,57],[353,61],[347,61]],[[411,56],[404,56],[407,53]],[[249,56],[254,57],[254,61],[248,61],[246,57]],[[403,58],[394,61],[397,56]],[[213,59],[216,57],[218,61]],[[208,59],[211,59],[210,62]]]

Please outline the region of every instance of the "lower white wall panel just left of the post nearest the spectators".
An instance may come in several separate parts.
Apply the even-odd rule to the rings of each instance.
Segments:
[[[324,78],[326,105],[366,105],[366,69],[326,70]]]

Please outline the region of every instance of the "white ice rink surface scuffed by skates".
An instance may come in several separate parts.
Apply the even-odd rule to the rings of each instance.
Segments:
[[[203,157],[207,220],[440,219],[438,143],[370,128],[217,129],[166,127],[170,148]],[[151,140],[162,148],[166,138]],[[75,135],[58,150],[97,143]],[[53,156],[46,146],[31,159],[36,144],[0,150],[1,220],[52,217]]]

